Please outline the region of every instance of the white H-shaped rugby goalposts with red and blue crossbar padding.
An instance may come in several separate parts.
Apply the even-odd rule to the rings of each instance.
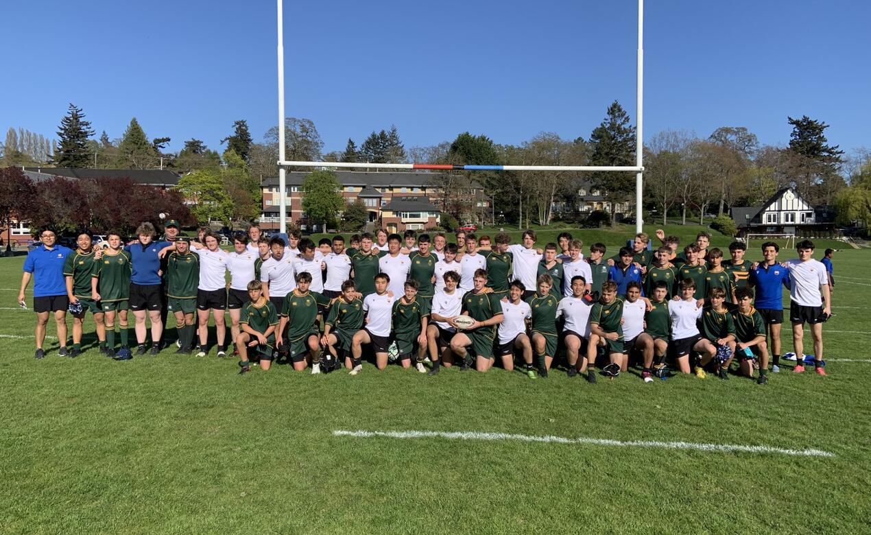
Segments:
[[[643,77],[644,77],[644,0],[638,0],[638,53],[636,79],[636,127],[634,166],[453,166],[447,164],[371,164],[365,162],[287,161],[285,158],[284,128],[284,20],[283,0],[278,2],[278,146],[279,146],[279,224],[280,231],[287,232],[287,167],[333,167],[345,169],[407,169],[430,171],[586,171],[586,172],[633,172],[635,174],[635,231],[640,233],[644,222],[641,218],[641,199],[644,193],[644,144],[643,125]]]

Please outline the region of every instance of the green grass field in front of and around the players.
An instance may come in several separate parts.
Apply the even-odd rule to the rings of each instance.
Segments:
[[[173,348],[112,362],[89,349],[71,360],[57,356],[56,339],[35,361],[33,314],[15,303],[22,261],[0,259],[0,532],[871,529],[868,250],[835,257],[829,376],[793,375],[787,363],[764,387],[737,376],[645,384],[630,373],[589,385],[560,371],[533,382],[502,369],[428,377],[371,365],[356,377],[287,367],[238,376],[236,363],[214,351],[197,359]],[[784,351],[791,348],[785,335]],[[683,441],[833,456],[335,430]]]

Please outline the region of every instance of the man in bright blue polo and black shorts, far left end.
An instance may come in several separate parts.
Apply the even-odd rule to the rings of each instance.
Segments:
[[[66,277],[64,263],[72,249],[56,245],[57,233],[51,227],[39,231],[42,244],[27,254],[24,260],[24,274],[21,277],[21,291],[18,292],[18,303],[24,306],[24,289],[33,277],[33,311],[37,313],[37,353],[34,358],[43,358],[43,342],[45,328],[49,322],[49,313],[54,313],[57,324],[57,340],[60,341],[59,356],[70,356],[66,350],[66,310],[70,306],[70,298],[66,295]]]

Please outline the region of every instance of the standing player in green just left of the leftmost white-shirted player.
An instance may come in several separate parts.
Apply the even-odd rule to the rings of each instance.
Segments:
[[[176,353],[190,355],[198,324],[194,315],[197,311],[199,255],[191,252],[191,239],[187,236],[180,236],[173,243],[175,250],[166,258],[166,310],[175,316],[179,338]]]

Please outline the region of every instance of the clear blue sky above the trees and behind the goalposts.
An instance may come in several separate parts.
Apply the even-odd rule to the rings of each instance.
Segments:
[[[395,124],[407,147],[469,131],[517,144],[589,137],[618,99],[634,120],[636,2],[285,1],[287,116],[325,150]],[[787,115],[871,146],[868,2],[645,5],[645,139],[746,126],[785,145]],[[233,120],[277,123],[275,3],[45,0],[3,6],[0,136],[55,137],[67,103],[99,133],[220,148]],[[2,139],[2,137],[0,137]]]

